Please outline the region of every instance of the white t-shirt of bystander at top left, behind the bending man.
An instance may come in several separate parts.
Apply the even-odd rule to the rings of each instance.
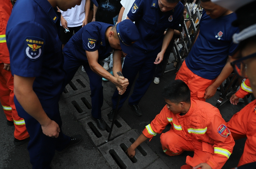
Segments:
[[[76,5],[67,11],[61,11],[61,15],[68,22],[68,27],[81,26],[85,18],[85,0],[82,0],[81,5]],[[60,23],[61,25],[61,23]]]

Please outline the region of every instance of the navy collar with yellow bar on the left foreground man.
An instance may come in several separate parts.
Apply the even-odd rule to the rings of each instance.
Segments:
[[[59,19],[52,5],[48,2],[48,0],[34,0],[44,11],[48,14],[50,20],[53,23],[56,23]]]

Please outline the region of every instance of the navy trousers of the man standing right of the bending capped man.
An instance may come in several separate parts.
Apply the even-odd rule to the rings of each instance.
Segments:
[[[129,98],[128,104],[139,104],[140,99],[147,92],[147,89],[153,79],[154,71],[156,68],[154,61],[160,51],[161,48],[151,52],[145,52],[134,48],[132,54],[128,54],[125,57],[122,73],[124,77],[128,79],[129,85],[127,86],[124,94],[121,96],[118,110],[123,106],[124,101],[129,96],[132,88],[132,83],[134,82],[138,72],[139,77],[138,79],[136,79],[133,93]],[[112,97],[113,109],[116,109],[118,95],[118,90],[116,89]]]

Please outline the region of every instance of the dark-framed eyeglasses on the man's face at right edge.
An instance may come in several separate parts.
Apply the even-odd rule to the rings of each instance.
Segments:
[[[236,61],[233,61],[230,63],[238,76],[240,76],[241,78],[247,77],[247,74],[246,74],[247,65],[244,63],[244,61],[253,57],[256,57],[256,53],[250,54],[243,58],[241,58],[241,53],[239,53],[237,58],[240,58],[240,59],[237,59]]]

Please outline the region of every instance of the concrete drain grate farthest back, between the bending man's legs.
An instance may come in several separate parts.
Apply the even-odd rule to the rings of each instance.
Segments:
[[[62,98],[74,96],[90,90],[90,85],[82,75],[74,76],[65,87]]]

